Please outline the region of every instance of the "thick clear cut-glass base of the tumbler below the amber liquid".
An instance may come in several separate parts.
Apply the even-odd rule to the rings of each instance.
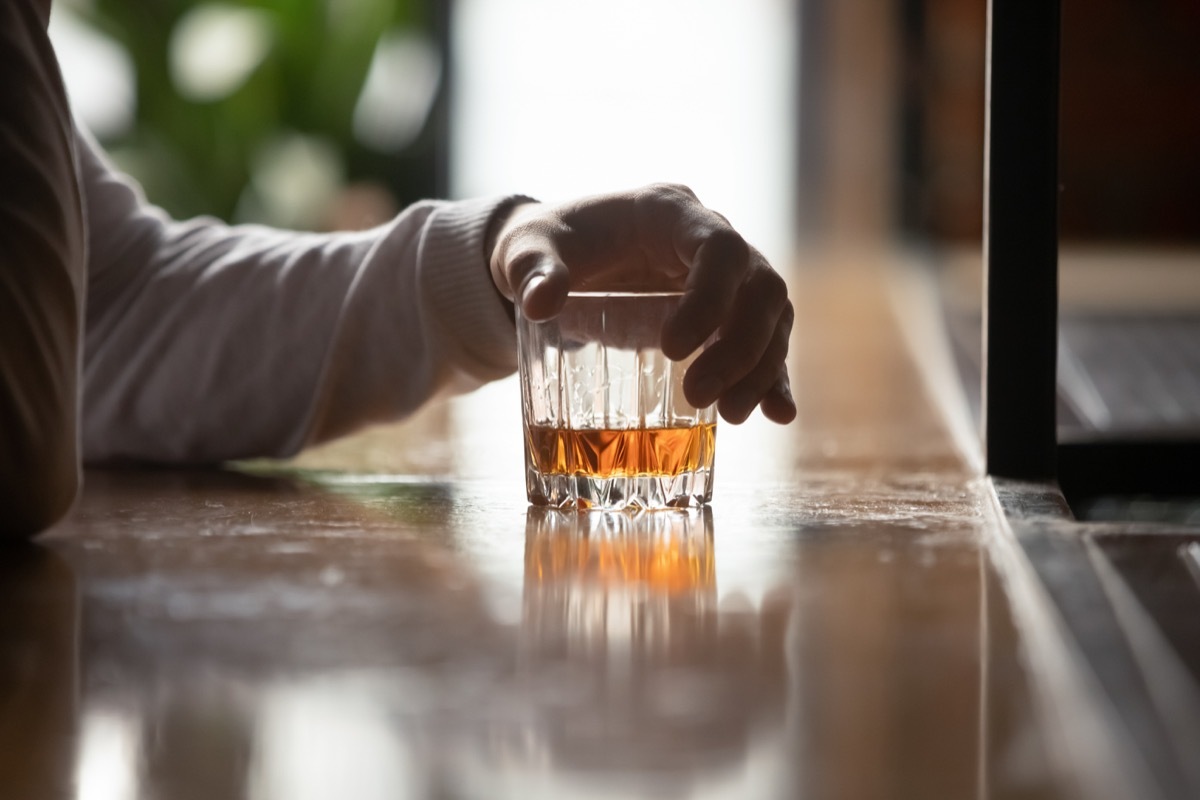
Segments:
[[[679,475],[542,474],[526,470],[526,489],[535,506],[596,511],[696,509],[713,499],[713,470]]]

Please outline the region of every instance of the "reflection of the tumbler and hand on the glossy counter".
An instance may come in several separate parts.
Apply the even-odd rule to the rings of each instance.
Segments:
[[[522,740],[606,781],[688,784],[737,763],[784,692],[761,672],[781,642],[755,642],[755,620],[718,624],[710,510],[530,507],[520,672],[536,722]]]

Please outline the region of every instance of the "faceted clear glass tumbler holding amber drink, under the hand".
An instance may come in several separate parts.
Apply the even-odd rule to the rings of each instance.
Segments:
[[[660,348],[679,293],[572,291],[551,320],[517,309],[526,489],[534,505],[700,506],[713,497],[714,407]]]

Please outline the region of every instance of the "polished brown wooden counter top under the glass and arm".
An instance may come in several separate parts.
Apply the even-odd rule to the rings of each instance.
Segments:
[[[799,420],[721,426],[703,512],[527,507],[512,381],[89,471],[2,553],[0,796],[1132,796],[920,287],[863,260],[794,282]]]

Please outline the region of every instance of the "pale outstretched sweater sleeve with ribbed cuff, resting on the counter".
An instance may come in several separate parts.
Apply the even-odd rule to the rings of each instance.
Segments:
[[[88,462],[283,457],[516,367],[485,264],[502,199],[301,234],[148,205],[80,134]]]

